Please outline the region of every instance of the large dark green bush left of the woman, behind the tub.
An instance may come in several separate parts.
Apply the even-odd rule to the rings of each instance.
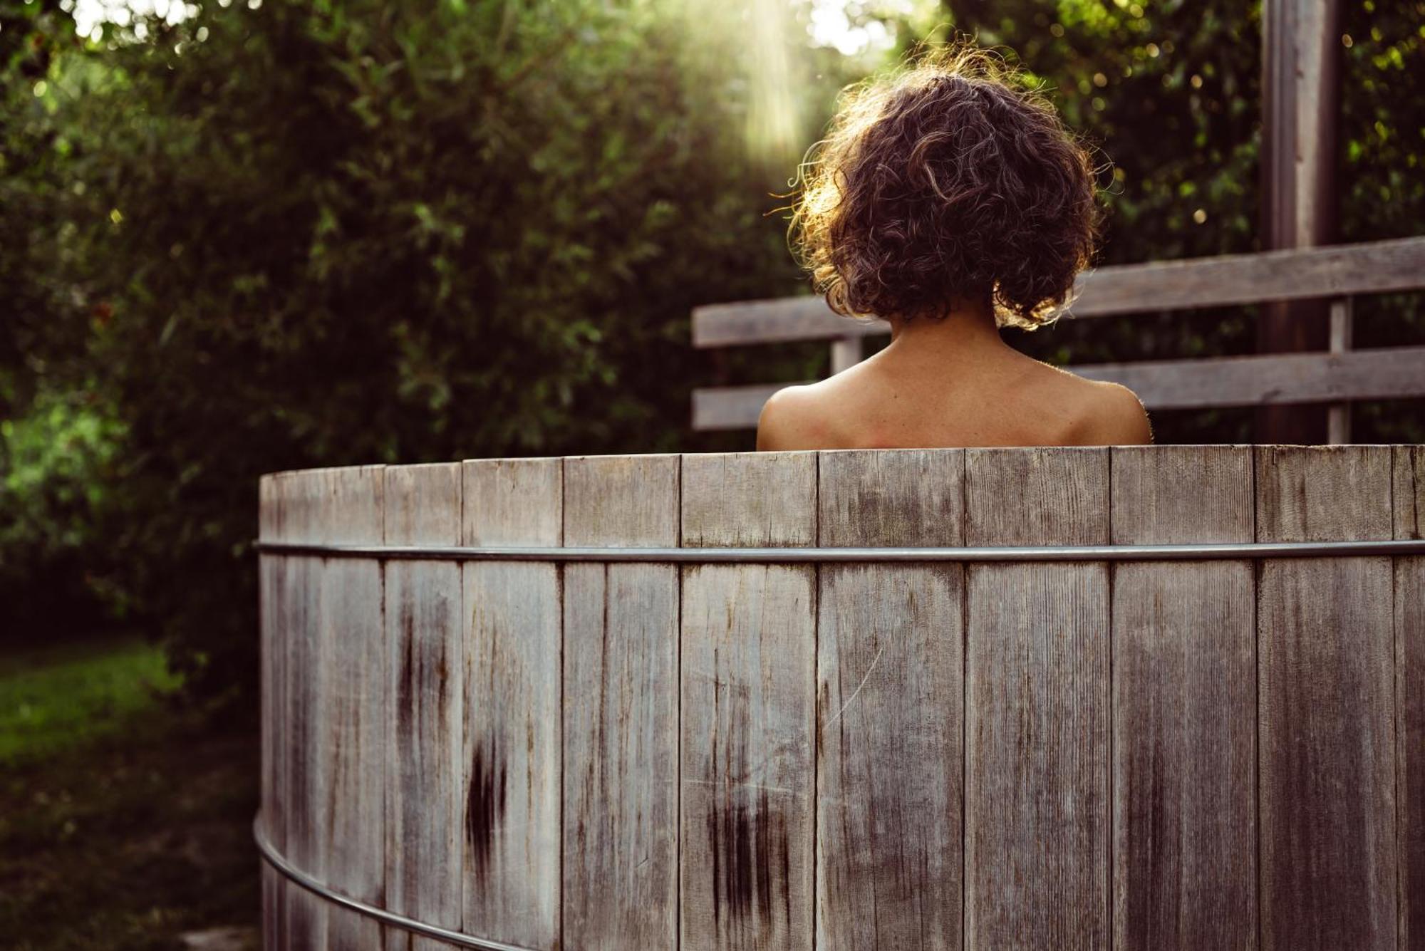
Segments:
[[[657,6],[204,6],[9,90],[63,185],[19,349],[113,401],[195,690],[252,682],[258,474],[671,448],[691,308],[795,288],[717,37]]]

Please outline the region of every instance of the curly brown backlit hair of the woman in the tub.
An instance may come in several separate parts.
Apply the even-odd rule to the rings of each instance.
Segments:
[[[801,174],[788,236],[842,315],[943,316],[970,302],[1033,329],[1093,253],[1087,149],[983,50],[940,47],[848,87]]]

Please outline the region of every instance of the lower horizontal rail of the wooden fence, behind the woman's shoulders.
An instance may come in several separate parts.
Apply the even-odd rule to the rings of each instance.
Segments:
[[[1425,396],[1425,347],[1094,363],[1064,369],[1090,380],[1121,383],[1150,410]],[[762,404],[787,386],[795,384],[695,389],[693,429],[755,427]]]

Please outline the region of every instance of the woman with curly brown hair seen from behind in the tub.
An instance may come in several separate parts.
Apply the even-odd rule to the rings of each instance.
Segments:
[[[762,409],[760,450],[1151,441],[1143,404],[1023,356],[1002,326],[1050,323],[1093,252],[1086,151],[979,51],[854,87],[792,211],[834,310],[891,323],[884,350]]]

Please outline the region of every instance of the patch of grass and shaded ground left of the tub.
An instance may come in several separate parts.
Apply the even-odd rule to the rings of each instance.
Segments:
[[[215,733],[168,696],[138,641],[0,659],[0,944],[182,947],[255,925],[254,736]]]

